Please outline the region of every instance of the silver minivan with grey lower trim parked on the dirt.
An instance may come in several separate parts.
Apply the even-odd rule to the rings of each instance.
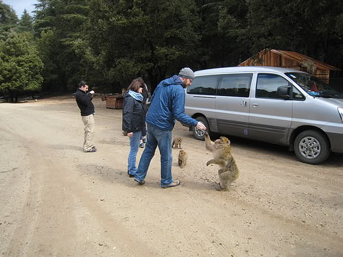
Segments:
[[[195,72],[185,112],[211,132],[287,145],[309,164],[343,153],[343,94],[295,69],[237,66]],[[190,127],[204,140],[204,132]]]

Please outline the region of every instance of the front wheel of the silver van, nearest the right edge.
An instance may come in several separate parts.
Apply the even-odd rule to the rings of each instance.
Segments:
[[[302,162],[318,164],[329,157],[329,142],[320,132],[305,130],[296,136],[294,152]]]

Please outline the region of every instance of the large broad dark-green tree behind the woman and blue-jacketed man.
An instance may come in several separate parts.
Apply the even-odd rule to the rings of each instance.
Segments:
[[[195,1],[91,0],[87,33],[111,83],[147,76],[152,88],[165,75],[196,63],[200,19]]]

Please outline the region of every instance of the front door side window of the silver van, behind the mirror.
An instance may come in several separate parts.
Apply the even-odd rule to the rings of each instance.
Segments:
[[[256,97],[277,99],[276,90],[280,86],[292,86],[292,84],[279,75],[260,73],[257,76]]]

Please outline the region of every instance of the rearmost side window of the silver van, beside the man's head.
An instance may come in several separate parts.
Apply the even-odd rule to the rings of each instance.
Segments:
[[[219,78],[219,75],[195,77],[191,86],[187,88],[187,93],[196,95],[215,95]]]

